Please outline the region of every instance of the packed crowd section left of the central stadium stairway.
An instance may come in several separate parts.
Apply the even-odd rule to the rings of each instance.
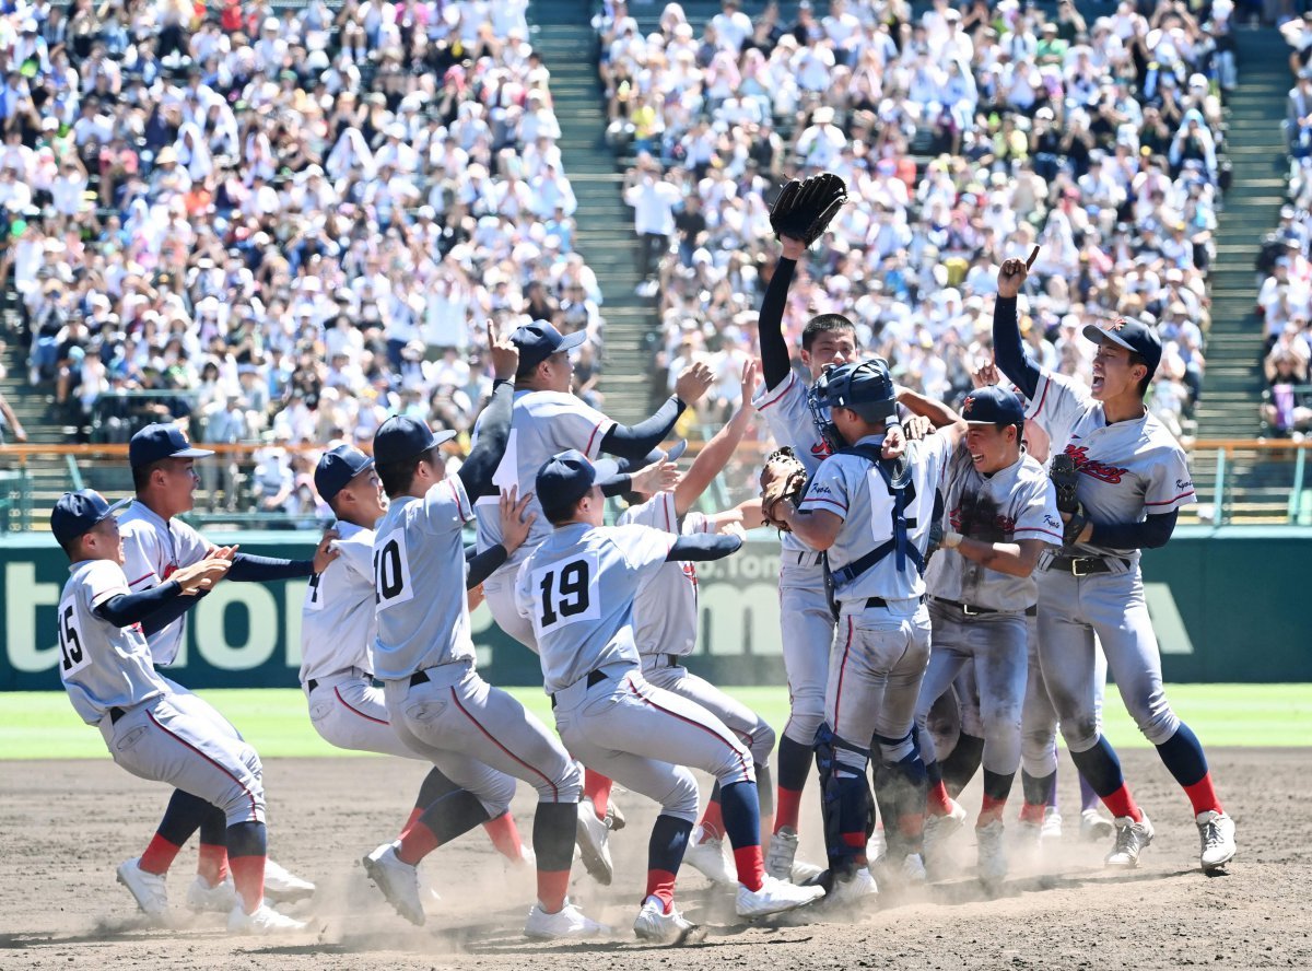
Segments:
[[[52,417],[104,441],[164,417],[278,446],[395,412],[464,432],[484,320],[586,328],[600,356],[526,7],[7,5],[0,274]],[[302,512],[312,457],[262,459],[260,508]]]

